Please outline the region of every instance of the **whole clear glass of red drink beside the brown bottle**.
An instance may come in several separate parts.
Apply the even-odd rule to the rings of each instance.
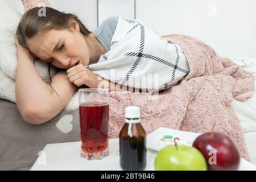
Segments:
[[[79,89],[81,156],[109,155],[109,89]]]

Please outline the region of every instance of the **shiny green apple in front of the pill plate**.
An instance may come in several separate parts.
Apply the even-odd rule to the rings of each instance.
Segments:
[[[155,158],[157,171],[206,171],[207,163],[203,154],[194,147],[166,146]]]

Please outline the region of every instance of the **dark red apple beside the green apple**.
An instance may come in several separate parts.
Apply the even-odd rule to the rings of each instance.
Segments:
[[[240,164],[240,155],[232,140],[222,133],[205,133],[196,138],[197,148],[207,161],[210,171],[234,171]]]

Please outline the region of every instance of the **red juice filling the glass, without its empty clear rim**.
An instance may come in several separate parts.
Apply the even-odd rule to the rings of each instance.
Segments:
[[[100,152],[108,147],[109,104],[85,103],[79,106],[82,151]]]

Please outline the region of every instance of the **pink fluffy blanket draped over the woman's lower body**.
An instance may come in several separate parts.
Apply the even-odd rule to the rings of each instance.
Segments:
[[[141,107],[142,125],[147,134],[167,127],[205,133],[216,122],[215,131],[236,143],[241,157],[250,160],[241,123],[230,105],[234,98],[251,96],[254,76],[233,61],[220,57],[199,39],[185,35],[162,37],[178,44],[186,56],[190,72],[170,89],[152,93],[110,92],[110,138],[117,138],[125,107]]]

